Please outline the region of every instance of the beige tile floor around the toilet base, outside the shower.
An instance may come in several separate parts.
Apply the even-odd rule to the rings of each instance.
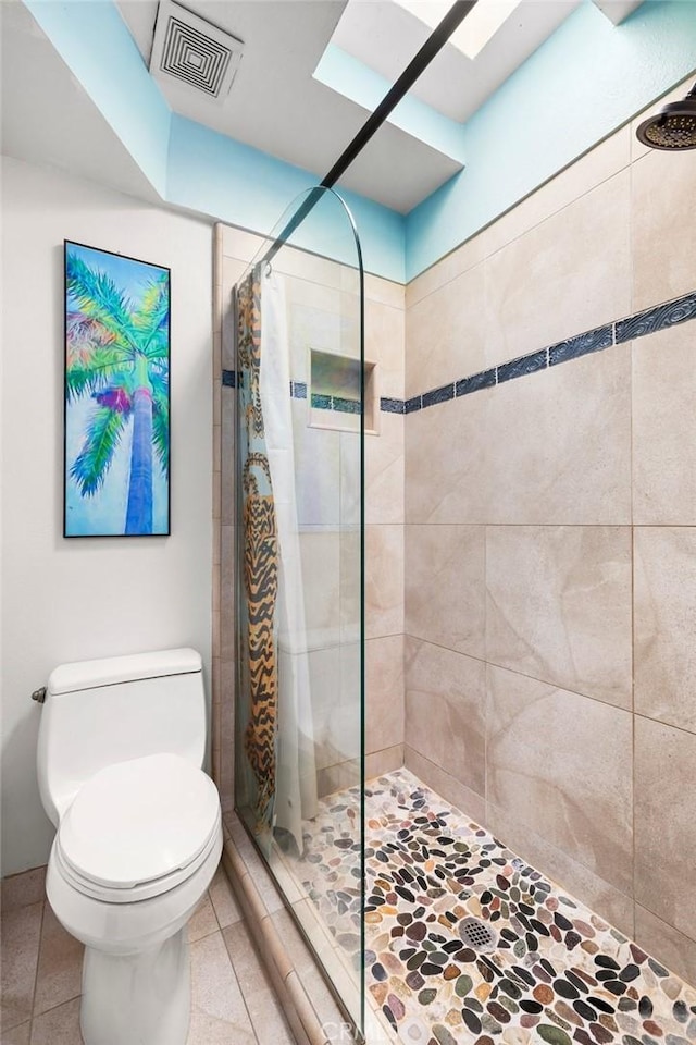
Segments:
[[[3,882],[0,1045],[82,1045],[82,945],[44,896],[44,869]],[[293,1045],[220,869],[189,923],[188,1045]]]

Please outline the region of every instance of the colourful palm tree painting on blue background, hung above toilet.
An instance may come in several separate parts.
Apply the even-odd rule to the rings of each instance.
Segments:
[[[65,537],[170,532],[170,270],[65,241]]]

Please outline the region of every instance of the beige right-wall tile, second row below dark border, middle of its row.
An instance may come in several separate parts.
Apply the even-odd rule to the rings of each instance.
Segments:
[[[486,660],[631,708],[629,527],[486,528]]]

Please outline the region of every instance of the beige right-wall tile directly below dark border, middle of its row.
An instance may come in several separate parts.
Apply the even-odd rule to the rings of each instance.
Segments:
[[[499,385],[485,442],[487,521],[630,524],[630,346]]]

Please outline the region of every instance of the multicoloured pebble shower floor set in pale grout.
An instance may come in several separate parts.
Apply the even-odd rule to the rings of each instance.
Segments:
[[[322,801],[296,865],[356,963],[359,797]],[[696,1042],[695,989],[408,771],[368,785],[365,826],[366,988],[399,1043]]]

